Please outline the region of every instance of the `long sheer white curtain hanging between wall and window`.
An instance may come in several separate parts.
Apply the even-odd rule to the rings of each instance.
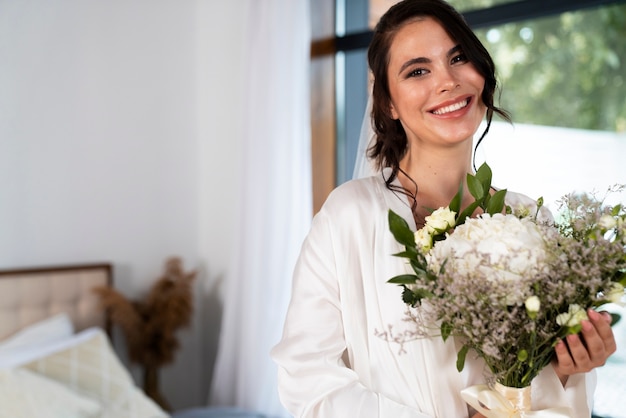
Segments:
[[[244,77],[228,81],[244,83],[238,231],[209,403],[287,417],[269,351],[312,216],[309,0],[250,0],[245,10]]]

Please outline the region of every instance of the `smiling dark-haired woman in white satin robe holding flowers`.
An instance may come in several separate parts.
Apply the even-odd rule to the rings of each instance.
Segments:
[[[368,60],[376,133],[369,156],[382,172],[338,187],[315,216],[284,335],[272,351],[281,399],[296,417],[480,417],[460,391],[485,382],[484,364],[468,358],[459,373],[452,339],[403,337],[410,325],[401,290],[387,280],[405,267],[391,256],[402,248],[387,213],[415,229],[472,171],[482,119],[506,116],[493,104],[493,62],[460,15],[438,0],[392,7],[374,31]],[[466,195],[463,206],[471,201]],[[518,203],[532,202],[507,193],[507,204]],[[574,335],[569,350],[556,347],[554,364],[533,382],[533,409],[569,406],[577,417],[590,416],[594,375],[587,372],[615,351],[615,340],[595,313],[582,338],[585,345]]]

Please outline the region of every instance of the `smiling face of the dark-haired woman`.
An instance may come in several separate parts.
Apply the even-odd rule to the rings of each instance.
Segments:
[[[406,24],[389,58],[391,115],[402,123],[409,144],[471,142],[485,116],[485,80],[441,24],[431,18]]]

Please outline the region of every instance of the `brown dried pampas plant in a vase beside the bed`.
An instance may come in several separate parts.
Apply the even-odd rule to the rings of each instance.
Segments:
[[[183,270],[180,258],[171,257],[143,300],[129,300],[111,287],[94,289],[120,327],[130,361],[142,368],[144,392],[166,411],[171,407],[159,389],[159,369],[174,361],[180,346],[176,331],[191,321],[195,277],[195,271]]]

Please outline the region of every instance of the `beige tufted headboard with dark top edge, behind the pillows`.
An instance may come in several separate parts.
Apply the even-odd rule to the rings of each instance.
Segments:
[[[66,312],[76,331],[110,330],[92,289],[112,285],[108,263],[0,270],[0,339],[57,313]]]

